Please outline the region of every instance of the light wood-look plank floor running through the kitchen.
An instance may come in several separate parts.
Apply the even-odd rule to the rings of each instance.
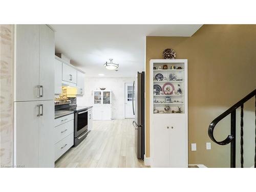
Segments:
[[[93,121],[93,129],[55,167],[146,167],[136,157],[133,119]]]

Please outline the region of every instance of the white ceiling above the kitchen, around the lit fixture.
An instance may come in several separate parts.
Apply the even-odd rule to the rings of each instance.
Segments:
[[[202,25],[50,25],[55,52],[63,53],[86,76],[135,77],[144,71],[146,36],[191,36]],[[103,68],[113,58],[118,71]]]

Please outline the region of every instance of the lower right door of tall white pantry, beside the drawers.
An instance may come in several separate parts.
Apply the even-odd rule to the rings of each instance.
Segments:
[[[39,104],[39,166],[54,167],[54,101]]]

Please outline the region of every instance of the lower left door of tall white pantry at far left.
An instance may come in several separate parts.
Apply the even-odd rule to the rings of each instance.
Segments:
[[[16,116],[15,161],[17,165],[24,165],[25,167],[39,167],[38,104],[38,101],[14,103]]]

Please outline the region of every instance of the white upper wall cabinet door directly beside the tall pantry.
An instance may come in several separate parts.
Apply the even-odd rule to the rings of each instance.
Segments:
[[[62,92],[62,62],[55,59],[54,62],[54,94],[61,94]]]

